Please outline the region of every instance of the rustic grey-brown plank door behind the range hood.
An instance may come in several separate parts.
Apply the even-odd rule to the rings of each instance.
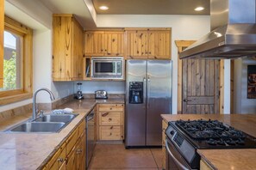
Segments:
[[[219,113],[219,60],[182,62],[182,113]]]

